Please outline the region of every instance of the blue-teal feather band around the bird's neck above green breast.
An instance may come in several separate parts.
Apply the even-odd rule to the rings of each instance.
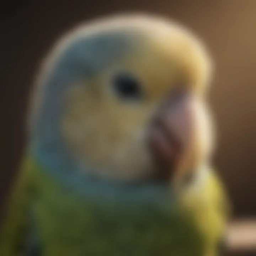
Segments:
[[[125,183],[99,180],[86,175],[81,167],[64,151],[44,149],[34,146],[31,150],[32,159],[37,163],[37,171],[49,178],[69,187],[79,194],[101,199],[161,202],[171,197],[170,187],[152,182]],[[89,168],[89,167],[88,167]],[[86,169],[83,166],[83,169]],[[88,172],[87,172],[88,173]]]

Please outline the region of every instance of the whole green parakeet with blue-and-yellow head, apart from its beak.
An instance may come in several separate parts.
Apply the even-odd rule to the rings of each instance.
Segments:
[[[208,162],[206,118],[177,168],[159,167],[146,143],[170,90],[201,102],[209,73],[196,39],[159,18],[110,18],[65,36],[38,76],[0,255],[219,255],[228,203]],[[156,175],[164,169],[175,171]]]

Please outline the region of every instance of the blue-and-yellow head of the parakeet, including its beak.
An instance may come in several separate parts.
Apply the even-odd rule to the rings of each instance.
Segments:
[[[123,15],[83,24],[43,62],[32,144],[48,162],[72,159],[72,171],[102,180],[183,177],[212,145],[211,71],[202,42],[176,22]]]

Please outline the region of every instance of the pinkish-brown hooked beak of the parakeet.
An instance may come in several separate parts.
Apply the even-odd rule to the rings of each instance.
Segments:
[[[175,175],[193,134],[193,95],[172,91],[151,120],[148,133],[156,178],[168,182]]]

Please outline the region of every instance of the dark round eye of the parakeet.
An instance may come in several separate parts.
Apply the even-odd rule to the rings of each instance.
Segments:
[[[141,90],[138,80],[130,74],[118,74],[113,80],[114,90],[124,99],[141,98]]]

